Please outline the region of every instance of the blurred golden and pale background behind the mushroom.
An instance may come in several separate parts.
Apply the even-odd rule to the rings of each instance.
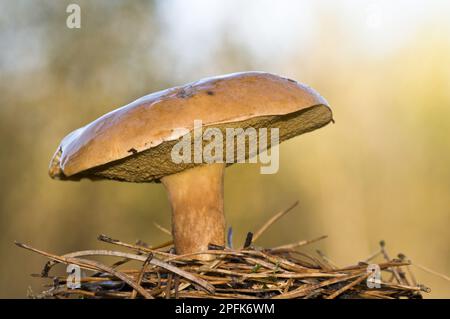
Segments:
[[[81,7],[81,29],[66,7]],[[226,215],[242,243],[314,244],[339,265],[387,243],[450,273],[450,2],[0,2],[0,297],[26,297],[44,258],[105,247],[100,233],[149,244],[169,237],[160,184],[59,182],[47,167],[61,138],[147,93],[202,77],[262,70],[316,88],[335,125],[280,147],[280,171],[227,169]],[[413,269],[450,298],[448,282]]]

